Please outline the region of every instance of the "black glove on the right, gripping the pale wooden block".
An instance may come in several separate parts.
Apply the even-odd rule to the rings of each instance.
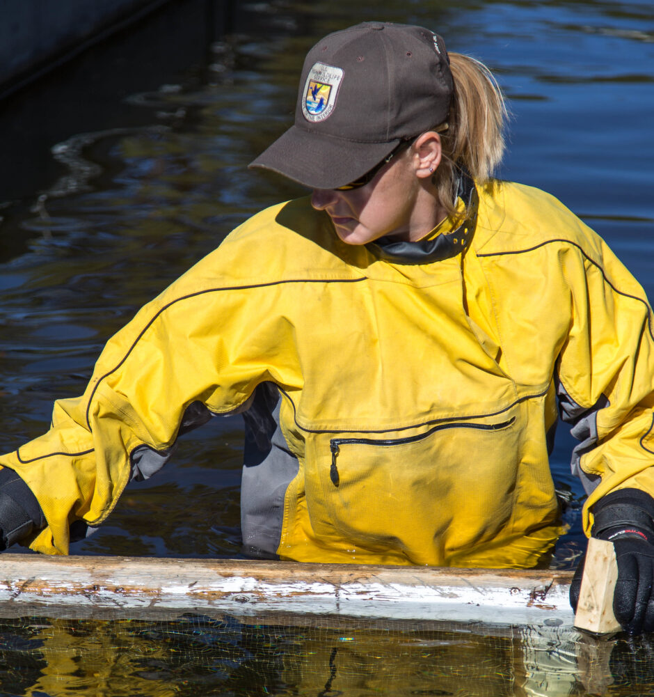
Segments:
[[[639,489],[621,489],[593,506],[592,535],[613,542],[618,580],[613,595],[616,620],[630,634],[654,631],[654,499]],[[570,605],[577,611],[584,557],[570,585]]]

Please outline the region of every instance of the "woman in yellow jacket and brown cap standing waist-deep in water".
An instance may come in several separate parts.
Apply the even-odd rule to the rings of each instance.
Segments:
[[[560,413],[586,534],[616,546],[618,620],[654,629],[651,309],[559,201],[492,178],[505,116],[488,69],[428,29],[321,40],[295,125],[252,163],[311,195],[143,307],[0,459],[4,544],[67,553],[180,434],[240,412],[250,556],[542,566]]]

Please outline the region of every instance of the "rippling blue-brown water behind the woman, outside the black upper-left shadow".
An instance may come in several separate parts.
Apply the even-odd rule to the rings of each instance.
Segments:
[[[359,20],[433,27],[451,50],[488,63],[512,112],[500,176],[559,197],[654,295],[650,3],[387,2],[382,10],[318,2],[242,11],[239,33],[207,45],[192,70],[125,95],[102,130],[53,143],[47,158],[61,174],[0,210],[3,450],[41,433],[54,399],[81,393],[107,337],[143,303],[249,215],[304,194],[247,163],[289,125],[306,50]],[[248,33],[250,16],[258,30]],[[40,181],[40,162],[32,167]],[[573,441],[559,430],[554,475],[578,498],[568,474]],[[100,533],[74,551],[233,555],[240,433],[233,418],[185,438],[173,464],[130,488]],[[576,508],[563,542],[572,556]]]

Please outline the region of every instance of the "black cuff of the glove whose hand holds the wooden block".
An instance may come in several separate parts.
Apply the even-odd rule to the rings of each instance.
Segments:
[[[593,537],[610,541],[632,537],[654,544],[654,498],[644,491],[612,491],[595,503],[593,516]]]

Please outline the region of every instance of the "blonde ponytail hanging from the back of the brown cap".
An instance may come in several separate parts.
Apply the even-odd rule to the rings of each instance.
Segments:
[[[453,213],[453,187],[461,169],[482,187],[492,182],[504,155],[508,109],[497,80],[483,63],[460,53],[450,53],[449,58],[454,95],[448,128],[440,132],[443,155],[434,181],[440,204]]]

